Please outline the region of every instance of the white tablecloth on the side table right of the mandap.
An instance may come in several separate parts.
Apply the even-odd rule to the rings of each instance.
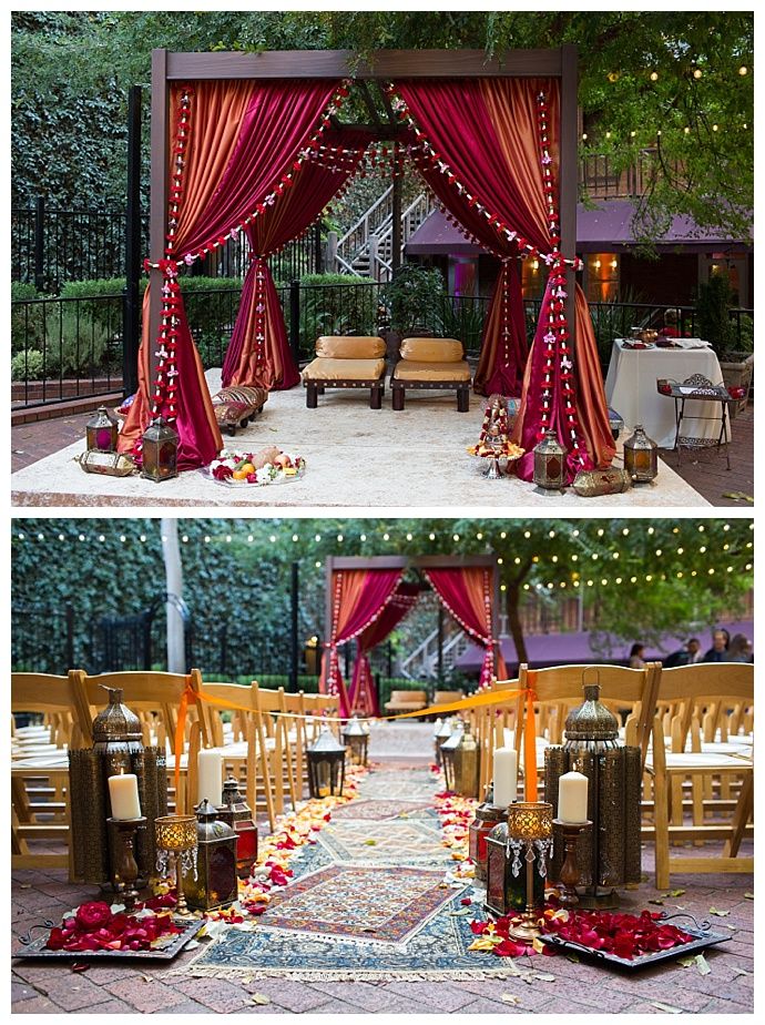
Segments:
[[[695,339],[683,339],[685,343]],[[669,395],[656,390],[656,378],[685,380],[692,374],[703,374],[712,384],[723,379],[720,363],[711,348],[624,348],[616,338],[605,378],[605,397],[625,425],[642,424],[645,433],[660,448],[674,448],[675,404]],[[692,419],[691,417],[712,417]],[[686,438],[717,438],[721,405],[697,398],[685,404],[682,435]]]

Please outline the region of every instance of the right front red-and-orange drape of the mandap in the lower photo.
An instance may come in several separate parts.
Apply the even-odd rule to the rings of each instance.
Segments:
[[[473,640],[486,648],[479,686],[488,687],[497,672],[504,673],[502,656],[493,636],[492,570],[481,566],[456,566],[426,569],[425,575],[447,611]]]

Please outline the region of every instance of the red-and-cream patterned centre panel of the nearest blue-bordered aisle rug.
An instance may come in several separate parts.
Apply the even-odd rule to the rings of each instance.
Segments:
[[[442,871],[328,865],[275,893],[261,917],[290,934],[404,943],[452,896]]]

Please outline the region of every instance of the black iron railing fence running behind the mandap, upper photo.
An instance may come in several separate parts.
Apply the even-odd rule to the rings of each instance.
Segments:
[[[200,283],[202,284],[202,283]],[[185,294],[192,335],[205,368],[221,366],[236,319],[241,285],[195,288],[193,278]],[[349,280],[319,284],[293,281],[278,285],[287,333],[300,363],[314,355],[323,334],[377,334],[388,327],[388,314],[376,282]],[[442,297],[434,333],[460,338],[473,359],[480,351],[481,333],[489,307],[486,296]],[[697,333],[696,311],[677,309],[681,334]],[[533,337],[540,301],[526,301],[527,335]],[[647,303],[591,303],[598,349],[608,366],[613,339],[632,327],[661,327],[666,305]],[[736,348],[751,352],[754,314],[732,309]],[[122,295],[104,294],[59,298],[23,298],[11,304],[12,402],[35,406],[74,397],[99,396],[122,388]]]

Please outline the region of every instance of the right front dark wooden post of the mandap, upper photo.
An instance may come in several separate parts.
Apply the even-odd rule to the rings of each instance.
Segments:
[[[561,124],[560,124],[560,230],[561,252],[567,260],[577,255],[577,191],[579,153],[577,47],[561,47]],[[577,355],[577,276],[573,268],[565,273],[565,315],[569,322],[571,351]]]

